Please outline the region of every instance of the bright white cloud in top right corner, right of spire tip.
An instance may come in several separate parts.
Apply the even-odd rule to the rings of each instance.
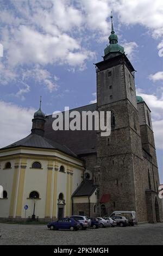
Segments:
[[[163,35],[163,2],[160,0],[111,1],[112,8],[118,14],[120,22],[125,25],[140,24],[152,33],[153,37]]]

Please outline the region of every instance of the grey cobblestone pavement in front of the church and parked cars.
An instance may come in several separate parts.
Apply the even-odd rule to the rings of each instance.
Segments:
[[[78,231],[0,223],[0,245],[163,245],[163,223]]]

